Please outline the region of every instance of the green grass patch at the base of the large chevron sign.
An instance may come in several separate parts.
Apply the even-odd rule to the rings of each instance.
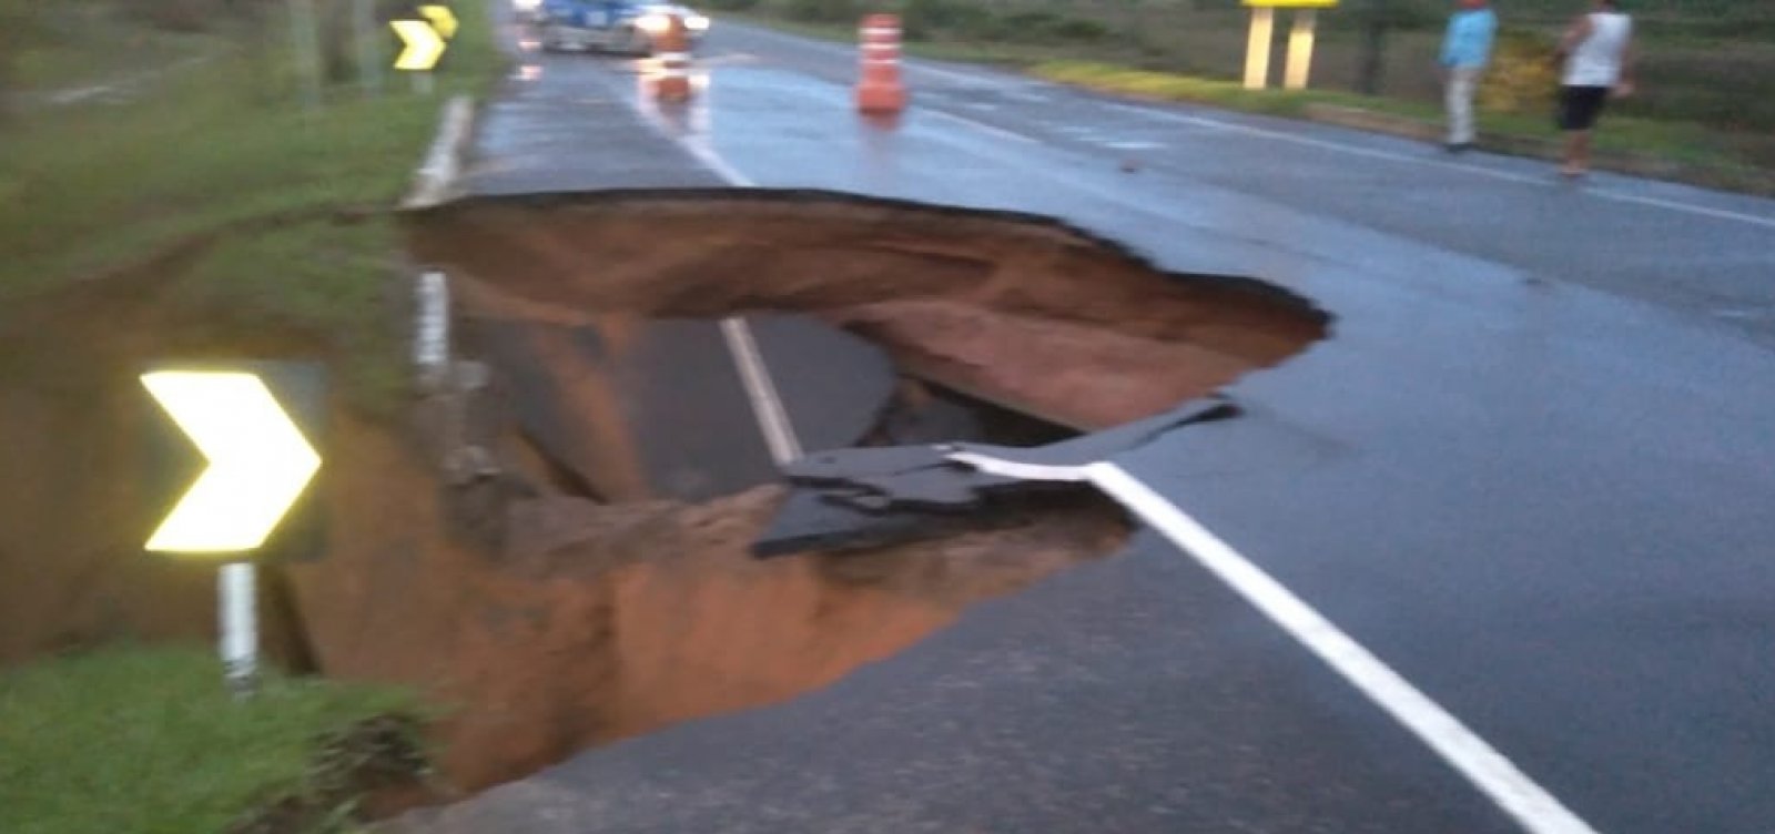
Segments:
[[[0,673],[0,830],[213,834],[314,777],[316,738],[414,713],[401,690],[272,678],[248,701],[197,648],[119,648]]]

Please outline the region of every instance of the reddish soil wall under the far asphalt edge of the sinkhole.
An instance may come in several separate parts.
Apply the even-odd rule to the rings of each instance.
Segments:
[[[1271,286],[1175,275],[1054,220],[760,192],[470,199],[410,216],[488,316],[813,312],[921,376],[1095,429],[1209,394],[1326,335]]]

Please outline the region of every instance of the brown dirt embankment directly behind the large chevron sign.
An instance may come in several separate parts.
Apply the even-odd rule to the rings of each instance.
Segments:
[[[215,566],[142,552],[178,495],[149,428],[163,417],[137,380],[170,357],[325,355],[302,334],[241,327],[176,296],[197,247],[169,250],[92,286],[0,309],[0,665],[122,639],[215,632]],[[270,610],[280,600],[268,598]],[[302,662],[289,621],[270,653]]]

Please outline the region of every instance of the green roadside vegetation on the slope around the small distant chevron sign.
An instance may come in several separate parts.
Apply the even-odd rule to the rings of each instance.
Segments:
[[[178,295],[304,334],[357,405],[398,401],[387,209],[444,99],[490,89],[502,57],[483,0],[458,0],[419,94],[351,5],[316,0],[298,55],[280,0],[0,0],[0,303],[195,247]]]

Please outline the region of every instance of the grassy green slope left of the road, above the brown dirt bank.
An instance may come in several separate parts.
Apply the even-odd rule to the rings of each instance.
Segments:
[[[222,30],[185,41],[209,55],[201,67],[126,103],[32,108],[0,128],[0,305],[213,238],[183,291],[229,300],[245,327],[273,318],[339,348],[330,358],[353,401],[385,410],[403,380],[399,351],[378,334],[398,236],[380,220],[320,218],[390,208],[446,98],[497,82],[504,57],[486,16],[469,4],[458,12],[431,96],[387,71],[382,94],[334,85],[307,108],[280,34],[263,41],[275,48],[256,48]],[[96,59],[112,43],[112,32],[59,41],[62,55],[36,60]]]

